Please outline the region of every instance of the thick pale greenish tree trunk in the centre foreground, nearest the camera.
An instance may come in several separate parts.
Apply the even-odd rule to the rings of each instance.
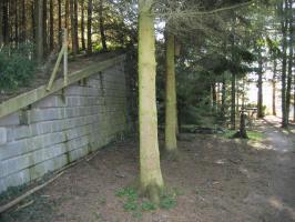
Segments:
[[[164,186],[157,143],[155,100],[155,37],[152,1],[139,0],[139,122],[140,184],[153,202],[160,202]]]

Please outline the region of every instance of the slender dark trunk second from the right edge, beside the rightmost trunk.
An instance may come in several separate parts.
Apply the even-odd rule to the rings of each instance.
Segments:
[[[281,6],[282,14],[284,14],[284,3]],[[282,127],[287,128],[287,110],[286,110],[286,67],[287,67],[287,22],[282,21],[282,33],[283,33],[283,42],[282,42]]]

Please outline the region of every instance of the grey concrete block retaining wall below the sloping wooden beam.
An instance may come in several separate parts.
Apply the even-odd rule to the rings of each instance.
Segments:
[[[110,143],[129,130],[123,64],[0,119],[0,193]]]

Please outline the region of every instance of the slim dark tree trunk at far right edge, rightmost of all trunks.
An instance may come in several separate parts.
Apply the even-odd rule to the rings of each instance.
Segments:
[[[288,10],[293,11],[293,0],[288,0]],[[291,91],[292,91],[292,68],[293,68],[293,44],[294,44],[294,37],[293,37],[293,13],[289,13],[288,18],[288,72],[287,72],[287,89],[286,89],[286,119],[287,123],[289,121],[289,108],[291,108]]]

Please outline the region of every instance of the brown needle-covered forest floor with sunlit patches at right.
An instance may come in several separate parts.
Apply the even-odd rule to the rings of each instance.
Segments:
[[[124,210],[116,193],[139,174],[138,142],[125,141],[67,170],[0,221],[294,222],[295,128],[283,131],[276,118],[254,128],[262,140],[182,134],[179,160],[161,161],[165,183],[177,190],[170,210]]]

